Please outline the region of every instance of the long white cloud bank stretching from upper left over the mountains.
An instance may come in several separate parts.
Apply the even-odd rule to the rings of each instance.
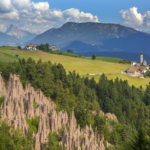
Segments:
[[[5,1],[5,2],[4,2]],[[20,25],[23,28],[46,30],[65,22],[98,22],[98,17],[79,9],[51,9],[48,2],[31,0],[0,0],[0,24]],[[47,28],[45,28],[47,27]]]

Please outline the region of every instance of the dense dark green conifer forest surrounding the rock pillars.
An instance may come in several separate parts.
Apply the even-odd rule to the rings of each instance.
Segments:
[[[91,124],[93,129],[97,127],[101,138],[104,135],[105,141],[108,140],[114,145],[113,149],[138,150],[139,142],[144,145],[142,145],[142,150],[150,149],[150,84],[147,85],[146,90],[143,90],[142,86],[139,88],[129,86],[126,80],[122,81],[118,78],[114,81],[108,80],[104,74],[96,83],[94,78],[81,78],[75,71],[66,73],[61,64],[52,64],[50,61],[42,62],[41,59],[35,62],[32,58],[19,59],[13,63],[0,62],[0,72],[5,81],[9,79],[9,74],[13,73],[20,75],[24,88],[28,83],[31,83],[35,89],[40,88],[45,96],[50,97],[56,103],[57,112],[66,110],[70,115],[71,108],[74,108],[77,123],[81,128],[84,128],[86,124]],[[0,104],[2,101],[0,99]],[[114,113],[118,123],[102,117],[100,110],[105,113]],[[18,136],[21,137],[17,142],[13,134],[7,134],[3,126],[6,126],[7,131],[13,127],[1,122],[0,134],[4,134],[6,141],[10,140],[14,147],[18,146],[18,142],[18,147],[20,147],[18,149],[34,147],[32,142],[34,139],[29,136],[30,132],[33,132],[32,128],[26,137],[12,130],[17,139]],[[55,133],[50,133],[49,137],[51,138],[48,138],[49,142],[45,143],[46,146],[43,149],[63,149],[57,144],[58,139]],[[1,141],[6,143],[0,138],[0,143]],[[28,143],[29,148],[25,148],[25,142]],[[4,146],[8,146],[7,143]]]

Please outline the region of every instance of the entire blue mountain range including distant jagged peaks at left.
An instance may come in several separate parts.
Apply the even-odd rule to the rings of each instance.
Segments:
[[[68,22],[44,33],[10,25],[5,33],[0,32],[0,45],[25,46],[29,43],[55,44],[62,51],[71,49],[78,54],[120,52],[121,57],[121,52],[139,53],[142,50],[150,55],[150,34],[119,24]]]

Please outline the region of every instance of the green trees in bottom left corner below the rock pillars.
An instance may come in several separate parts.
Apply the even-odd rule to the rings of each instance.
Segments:
[[[0,120],[0,150],[33,150],[34,142],[30,129],[24,136],[21,129],[14,129]]]

